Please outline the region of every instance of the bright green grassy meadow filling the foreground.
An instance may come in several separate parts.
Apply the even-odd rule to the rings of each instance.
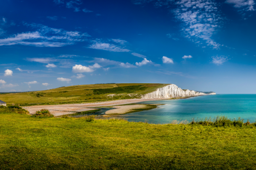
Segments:
[[[0,169],[255,169],[255,133],[0,113]]]

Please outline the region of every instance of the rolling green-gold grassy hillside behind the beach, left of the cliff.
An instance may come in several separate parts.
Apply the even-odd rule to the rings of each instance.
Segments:
[[[140,98],[140,94],[150,93],[166,85],[168,84],[129,83],[74,85],[46,91],[0,94],[0,100],[6,102],[7,105],[15,103],[21,106],[29,106],[133,99]],[[108,96],[109,94],[115,94],[115,96]]]

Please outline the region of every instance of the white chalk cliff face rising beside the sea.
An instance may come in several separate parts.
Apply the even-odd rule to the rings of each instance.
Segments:
[[[216,93],[211,93],[216,94]],[[181,88],[178,88],[177,85],[166,85],[163,88],[157,88],[156,91],[145,94],[142,96],[142,99],[161,99],[161,98],[176,98],[176,97],[189,97],[189,96],[199,96],[207,95],[204,93],[198,93],[195,91],[186,90],[183,91]]]

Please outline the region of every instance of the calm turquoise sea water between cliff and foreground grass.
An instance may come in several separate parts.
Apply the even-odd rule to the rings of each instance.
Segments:
[[[156,109],[123,115],[129,122],[165,124],[172,120],[188,120],[217,115],[238,118],[250,122],[256,119],[256,94],[217,94],[189,99],[140,102],[160,105]]]

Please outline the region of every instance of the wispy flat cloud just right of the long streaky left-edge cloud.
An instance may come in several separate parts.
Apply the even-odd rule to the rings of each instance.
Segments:
[[[129,52],[130,50],[119,47],[114,44],[109,44],[105,42],[95,42],[90,45],[88,48],[98,49],[98,50],[106,50],[106,51],[114,51],[114,52]]]

